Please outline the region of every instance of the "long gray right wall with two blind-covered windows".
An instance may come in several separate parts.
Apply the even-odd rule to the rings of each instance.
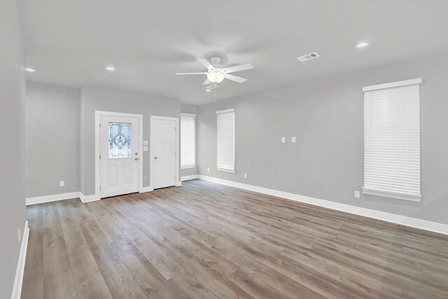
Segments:
[[[448,224],[447,65],[447,55],[398,62],[200,106],[199,172]],[[361,89],[419,77],[423,79],[422,201],[368,195],[354,198],[353,191],[363,186]],[[215,111],[230,108],[235,108],[235,174],[216,170]],[[286,144],[281,137],[286,137]],[[291,143],[291,137],[297,143]]]

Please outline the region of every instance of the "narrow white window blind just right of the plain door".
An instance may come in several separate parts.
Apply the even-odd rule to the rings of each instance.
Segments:
[[[196,167],[196,115],[181,113],[181,169]]]

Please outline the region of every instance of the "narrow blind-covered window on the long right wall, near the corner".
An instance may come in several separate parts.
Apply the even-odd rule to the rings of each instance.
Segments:
[[[235,173],[235,111],[216,111],[218,120],[218,171]]]

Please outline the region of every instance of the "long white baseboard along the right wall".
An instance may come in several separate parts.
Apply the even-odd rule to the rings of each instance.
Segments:
[[[429,230],[431,232],[438,232],[440,234],[448,235],[448,225],[443,223],[436,223],[432,221],[426,221],[422,219],[401,216],[397,214],[391,214],[384,211],[377,211],[373,209],[366,209],[362,207],[355,207],[349,204],[341,204],[339,202],[331,202],[329,200],[319,200],[314,197],[307,197],[294,193],[287,193],[279,190],[273,190],[268,188],[262,188],[258,186],[248,185],[246,183],[238,183],[235,181],[228,181],[224,179],[217,179],[212,176],[199,175],[199,179],[204,181],[211,181],[214,183],[221,183],[222,185],[232,186],[244,190],[250,190],[266,195],[272,195],[276,197],[286,198],[287,200],[295,200],[296,202],[304,202],[307,204],[313,204],[318,207],[325,207],[328,209],[335,209],[337,211],[344,211],[350,214],[356,214],[359,216],[365,216],[369,218],[379,219],[382,221],[388,221],[391,223],[397,223],[401,225],[410,226],[412,228],[419,228],[421,230]]]

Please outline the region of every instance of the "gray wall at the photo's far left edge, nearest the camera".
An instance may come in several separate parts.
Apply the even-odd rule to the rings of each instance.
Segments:
[[[25,225],[25,74],[17,4],[0,1],[0,298],[10,298]]]

